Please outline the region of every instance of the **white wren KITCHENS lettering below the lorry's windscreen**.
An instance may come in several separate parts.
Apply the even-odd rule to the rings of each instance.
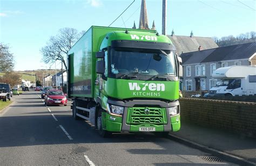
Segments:
[[[133,96],[152,96],[159,97],[161,91],[165,91],[164,84],[156,83],[131,83],[129,89],[132,90]]]

